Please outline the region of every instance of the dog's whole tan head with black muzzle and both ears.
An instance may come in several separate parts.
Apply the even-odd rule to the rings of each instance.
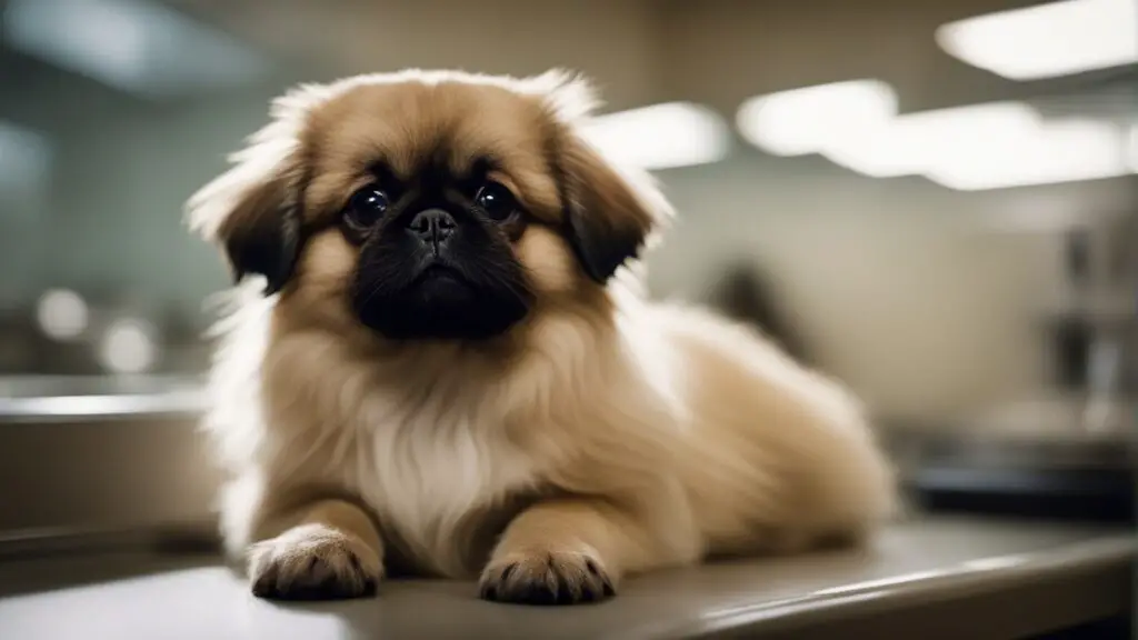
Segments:
[[[361,76],[279,99],[189,215],[234,274],[390,339],[502,335],[580,298],[670,212],[576,132],[560,74]]]

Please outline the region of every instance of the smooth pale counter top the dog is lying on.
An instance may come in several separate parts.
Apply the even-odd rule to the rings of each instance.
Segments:
[[[0,563],[0,638],[1023,638],[1124,613],[1136,549],[1119,528],[920,517],[865,549],[660,572],[567,608],[483,602],[440,581],[281,606],[211,557],[22,559]]]

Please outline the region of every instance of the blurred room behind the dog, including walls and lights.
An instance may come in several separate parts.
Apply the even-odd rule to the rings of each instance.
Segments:
[[[0,530],[209,523],[192,426],[203,302],[228,279],[182,203],[289,84],[409,66],[594,77],[608,105],[588,134],[681,212],[653,295],[716,305],[844,379],[930,504],[1066,491],[1123,509],[1136,16],[1132,0],[0,0]]]

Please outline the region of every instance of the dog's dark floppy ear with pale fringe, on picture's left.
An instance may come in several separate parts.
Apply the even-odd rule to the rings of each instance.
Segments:
[[[323,88],[302,87],[273,101],[272,122],[230,156],[232,166],[185,205],[191,230],[220,246],[234,281],[264,276],[265,295],[289,281],[300,252],[304,164],[300,134]]]

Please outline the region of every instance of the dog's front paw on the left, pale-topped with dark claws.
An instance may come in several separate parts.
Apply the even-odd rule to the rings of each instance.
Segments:
[[[249,548],[253,593],[275,600],[336,600],[376,593],[382,563],[358,538],[303,525]]]

